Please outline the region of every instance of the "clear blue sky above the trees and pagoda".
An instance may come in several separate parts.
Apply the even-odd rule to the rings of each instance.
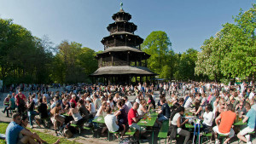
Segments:
[[[62,40],[82,43],[103,50],[106,27],[119,11],[120,0],[0,0],[0,17],[13,19],[34,36],[47,35],[55,45]],[[123,0],[124,10],[132,15],[137,35],[164,31],[172,49],[200,50],[205,39],[214,36],[222,24],[233,22],[240,9],[252,8],[255,0]]]

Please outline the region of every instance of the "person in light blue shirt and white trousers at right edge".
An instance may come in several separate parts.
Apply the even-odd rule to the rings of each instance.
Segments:
[[[246,103],[245,107],[247,109],[247,115],[244,116],[244,118],[242,119],[242,123],[247,122],[247,127],[241,130],[237,134],[237,137],[241,141],[247,142],[247,144],[251,144],[252,142],[250,141],[250,135],[247,135],[247,133],[251,133],[254,131],[256,122],[256,111],[253,108],[251,108],[251,105],[248,102]]]

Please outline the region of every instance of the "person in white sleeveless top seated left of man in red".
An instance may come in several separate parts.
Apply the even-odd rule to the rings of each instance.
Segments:
[[[111,132],[121,132],[121,138],[125,135],[125,124],[119,124],[115,115],[111,114],[111,107],[107,107],[107,116],[104,118],[105,124],[108,127],[108,130]]]

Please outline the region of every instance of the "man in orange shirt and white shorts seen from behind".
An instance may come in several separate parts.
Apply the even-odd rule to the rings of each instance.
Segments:
[[[217,118],[215,118],[215,124],[216,126],[213,127],[214,131],[214,137],[215,137],[215,143],[218,144],[218,134],[221,135],[228,135],[229,138],[227,138],[224,143],[228,143],[230,139],[235,135],[235,131],[232,129],[232,125],[234,124],[236,120],[236,113],[232,112],[233,106],[232,104],[228,105],[228,110],[225,112],[221,112]],[[220,120],[220,124],[218,123]]]

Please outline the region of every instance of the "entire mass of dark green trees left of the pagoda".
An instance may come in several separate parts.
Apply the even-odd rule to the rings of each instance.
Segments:
[[[52,45],[48,37],[33,37],[13,20],[0,19],[0,79],[5,85],[90,82],[94,50],[76,42]]]

